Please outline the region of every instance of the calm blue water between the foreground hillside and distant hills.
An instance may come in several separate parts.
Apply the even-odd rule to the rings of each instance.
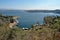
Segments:
[[[40,12],[34,12],[34,13],[29,13],[25,11],[2,11],[3,15],[12,15],[12,16],[20,16],[18,19],[19,24],[18,26],[23,28],[23,27],[31,27],[32,24],[36,24],[39,22],[40,24],[43,24],[43,19],[45,16],[56,16],[60,15],[57,13],[40,13]]]

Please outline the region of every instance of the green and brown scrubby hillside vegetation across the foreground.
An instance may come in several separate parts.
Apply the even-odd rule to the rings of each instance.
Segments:
[[[43,25],[24,30],[17,26],[9,28],[10,16],[0,15],[0,40],[60,40],[60,16],[44,18]]]

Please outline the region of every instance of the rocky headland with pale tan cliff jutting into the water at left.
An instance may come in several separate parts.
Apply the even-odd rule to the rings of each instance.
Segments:
[[[17,21],[17,16],[3,16],[0,15],[0,26],[6,25],[9,28],[12,28],[13,26],[16,26],[18,21]]]

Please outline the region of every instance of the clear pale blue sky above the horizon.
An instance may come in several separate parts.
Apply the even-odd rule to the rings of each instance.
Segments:
[[[60,0],[0,0],[0,9],[54,10],[60,9]]]

